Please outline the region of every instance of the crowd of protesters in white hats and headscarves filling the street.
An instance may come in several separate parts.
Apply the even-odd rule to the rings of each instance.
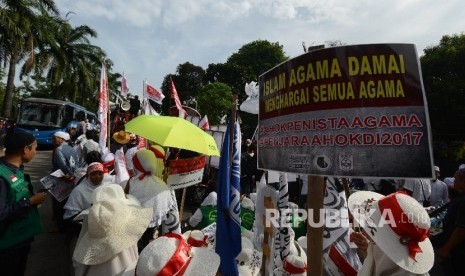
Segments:
[[[166,184],[165,167],[167,160],[180,158],[180,152],[156,144],[138,148],[139,137],[124,130],[111,138],[110,148],[101,152],[98,130],[85,124],[71,124],[67,132],[53,135],[53,171],[61,170],[62,180],[74,183],[66,200],[52,200],[58,231],[71,237],[75,275],[215,275],[220,263],[215,241],[202,232],[216,219],[215,178],[204,179],[204,197],[183,223],[179,200]],[[36,153],[35,138],[11,133],[5,137],[5,147],[0,160],[0,264],[2,275],[22,275],[34,236],[41,232],[37,205],[48,194],[34,192],[24,172],[23,164]],[[117,151],[125,155],[129,180],[119,181]],[[237,262],[240,275],[258,275],[263,272],[260,260],[264,256],[253,231],[257,182],[264,172],[257,169],[256,141],[244,140],[241,156],[243,237]],[[435,173],[434,179],[348,181],[351,212],[364,206],[375,213],[395,210],[394,216],[415,214],[413,221],[402,221],[396,227],[377,231],[363,227],[352,233],[357,256],[363,261],[359,275],[465,274],[461,264],[465,257],[465,165],[452,179],[441,180],[438,166]],[[343,191],[344,181],[334,181]],[[289,208],[305,209],[306,178],[290,174],[289,182]],[[436,236],[429,234],[428,212],[445,213],[442,233]],[[306,245],[297,242],[306,238],[306,225],[294,226],[291,253],[275,275],[306,273]]]

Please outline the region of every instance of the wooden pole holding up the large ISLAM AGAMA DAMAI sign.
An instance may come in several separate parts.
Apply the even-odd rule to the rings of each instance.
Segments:
[[[325,219],[324,214],[323,217],[320,217],[320,210],[323,210],[324,184],[322,176],[308,176],[307,275],[311,276],[323,275],[324,223],[320,227],[313,226]],[[310,220],[310,213],[313,214],[313,221]]]

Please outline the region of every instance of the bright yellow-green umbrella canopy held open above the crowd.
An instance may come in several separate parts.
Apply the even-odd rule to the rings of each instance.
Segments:
[[[125,130],[165,147],[220,156],[215,139],[183,118],[140,115],[125,124]]]

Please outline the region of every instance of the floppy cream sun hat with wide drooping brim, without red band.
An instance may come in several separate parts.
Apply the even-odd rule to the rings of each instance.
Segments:
[[[101,264],[136,245],[152,218],[151,208],[126,199],[117,184],[96,188],[92,200],[83,222],[87,231],[81,233],[73,254],[77,262],[85,265]]]

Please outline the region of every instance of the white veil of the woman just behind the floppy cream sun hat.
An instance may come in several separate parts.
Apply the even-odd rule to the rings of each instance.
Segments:
[[[82,182],[77,185],[69,195],[68,201],[63,207],[63,209],[65,209],[63,218],[71,218],[72,216],[79,214],[85,209],[90,208],[92,193],[94,192],[95,188],[100,187],[101,185],[104,185],[104,183],[102,182],[100,185],[94,186],[90,182],[89,178],[86,177],[83,179]]]

